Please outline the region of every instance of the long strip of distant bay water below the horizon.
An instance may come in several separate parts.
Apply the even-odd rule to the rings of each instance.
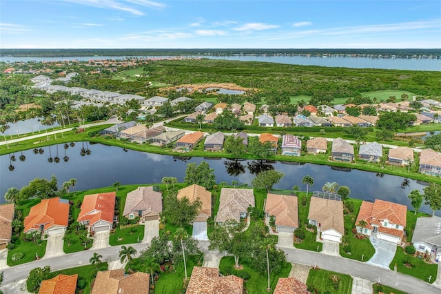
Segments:
[[[91,59],[126,59],[126,58],[165,59],[176,56],[83,56],[83,57],[8,57],[1,56],[0,62],[28,62],[28,61],[88,61]],[[387,70],[427,70],[440,71],[441,59],[435,58],[373,58],[373,57],[307,57],[288,55],[192,55],[193,58],[227,59],[238,61],[262,61],[285,64],[297,64],[301,66],[327,66],[341,68],[380,68]]]

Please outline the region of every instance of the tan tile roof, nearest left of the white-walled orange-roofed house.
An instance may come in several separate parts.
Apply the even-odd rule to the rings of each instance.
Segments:
[[[321,231],[334,228],[338,233],[345,235],[343,202],[341,201],[311,197],[308,219],[318,222],[321,225]]]

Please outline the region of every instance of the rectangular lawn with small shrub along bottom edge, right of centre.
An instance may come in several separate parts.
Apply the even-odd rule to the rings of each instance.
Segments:
[[[334,285],[329,278],[334,275],[340,277],[340,282],[338,283],[337,289],[334,288]],[[307,286],[313,286],[314,288],[318,289],[319,293],[351,294],[352,291],[352,277],[350,275],[344,275],[334,271],[326,271],[321,268],[313,268],[311,271],[309,271],[306,284]]]

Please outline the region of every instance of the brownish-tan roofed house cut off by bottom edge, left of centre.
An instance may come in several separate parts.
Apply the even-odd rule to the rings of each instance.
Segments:
[[[99,271],[96,273],[91,294],[148,294],[150,293],[150,275],[136,272],[125,274],[125,269]]]

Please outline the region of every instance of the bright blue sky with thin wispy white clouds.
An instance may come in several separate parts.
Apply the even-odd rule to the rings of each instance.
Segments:
[[[441,48],[441,1],[2,0],[1,48]]]

